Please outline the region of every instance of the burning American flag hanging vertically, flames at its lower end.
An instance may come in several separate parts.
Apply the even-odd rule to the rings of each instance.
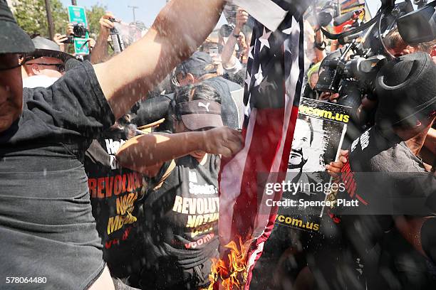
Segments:
[[[251,272],[274,227],[278,209],[266,206],[271,196],[264,184],[283,181],[284,175],[271,173],[286,172],[288,166],[303,82],[302,15],[311,3],[234,2],[256,23],[244,87],[245,144],[232,159],[222,160],[219,259],[213,261],[209,289],[249,289]],[[258,173],[268,177],[260,181]]]

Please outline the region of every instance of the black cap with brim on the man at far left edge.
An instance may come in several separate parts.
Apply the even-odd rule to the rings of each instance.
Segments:
[[[31,38],[16,23],[6,0],[0,0],[0,54],[31,53],[33,50]]]

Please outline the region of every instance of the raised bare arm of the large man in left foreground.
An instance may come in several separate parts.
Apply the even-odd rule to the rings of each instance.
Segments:
[[[224,0],[172,0],[140,41],[108,62],[95,65],[115,119],[202,44],[217,24],[224,4]]]

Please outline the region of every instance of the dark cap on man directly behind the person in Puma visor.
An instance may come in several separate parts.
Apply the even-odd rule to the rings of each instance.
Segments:
[[[214,65],[214,60],[212,60],[212,57],[208,53],[196,51],[190,58],[180,63],[180,65],[177,65],[175,75],[179,75],[180,73],[202,76],[208,73],[217,73],[217,68]]]

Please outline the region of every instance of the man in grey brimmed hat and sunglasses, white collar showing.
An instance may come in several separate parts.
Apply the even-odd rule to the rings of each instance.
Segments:
[[[64,74],[66,60],[72,55],[61,51],[59,46],[41,36],[32,39],[35,51],[24,56],[24,70],[28,77],[23,87],[50,87]]]

